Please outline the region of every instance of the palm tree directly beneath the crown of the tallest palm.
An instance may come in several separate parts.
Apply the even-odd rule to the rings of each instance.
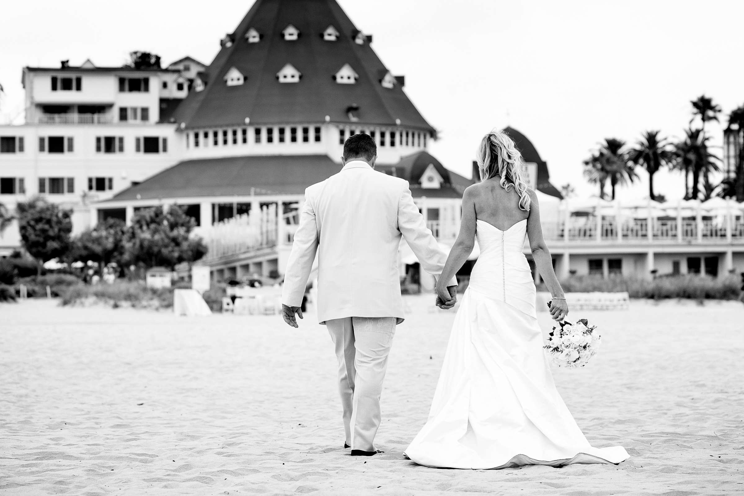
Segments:
[[[700,196],[700,176],[707,178],[710,173],[720,171],[717,162],[720,161],[711,152],[710,137],[706,136],[702,129],[687,129],[684,132],[684,140],[675,145],[676,169],[685,171],[684,187],[687,191],[687,173],[692,173],[692,190],[685,194],[686,199],[698,199]],[[705,180],[703,184],[705,194],[712,194],[713,189],[710,181]]]

